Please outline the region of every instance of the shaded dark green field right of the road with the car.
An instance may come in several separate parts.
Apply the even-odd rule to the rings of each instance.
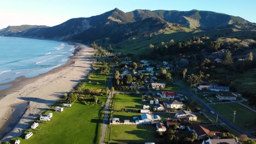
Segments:
[[[233,123],[234,118],[233,111],[236,110],[235,125],[243,130],[253,130],[256,127],[253,124],[256,121],[255,112],[239,104],[218,104],[211,106],[231,123]]]

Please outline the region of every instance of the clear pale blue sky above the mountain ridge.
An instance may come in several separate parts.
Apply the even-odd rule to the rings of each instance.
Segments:
[[[55,26],[75,17],[90,17],[118,8],[215,11],[256,22],[255,0],[0,0],[0,29],[7,26]]]

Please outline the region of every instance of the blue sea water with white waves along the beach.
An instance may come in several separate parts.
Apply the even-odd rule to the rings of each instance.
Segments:
[[[65,64],[73,52],[74,45],[61,41],[0,37],[0,83],[46,73]]]

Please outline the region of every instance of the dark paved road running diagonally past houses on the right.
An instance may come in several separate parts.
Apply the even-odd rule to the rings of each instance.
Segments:
[[[193,92],[189,91],[184,85],[183,83],[181,83],[181,81],[179,80],[174,80],[175,83],[177,83],[177,85],[181,86],[183,88],[183,91],[180,91],[179,93],[181,94],[185,94],[188,95],[189,97],[193,97],[195,100],[199,101],[199,103],[201,103],[203,106],[205,106],[206,110],[208,111],[214,111],[212,109],[211,106],[209,106],[207,103],[205,103],[205,101],[201,100],[200,98],[198,98]],[[248,137],[251,137],[253,139],[256,139],[256,136],[251,135],[251,133],[249,133],[248,131],[243,131],[242,129],[236,127],[236,125],[230,123],[229,121],[227,121],[222,115],[220,115],[220,113],[215,111],[214,115],[218,115],[219,119],[222,120],[226,125],[228,125],[230,128],[236,130],[238,133],[240,134],[246,134]]]

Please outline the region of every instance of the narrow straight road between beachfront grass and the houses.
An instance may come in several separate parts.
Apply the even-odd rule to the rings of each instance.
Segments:
[[[110,78],[108,81],[108,88],[111,89],[112,88],[112,81],[113,81],[113,73],[114,73],[114,65],[111,66],[111,72],[110,72]],[[108,125],[108,117],[110,116],[109,112],[109,105],[110,105],[110,100],[112,97],[112,93],[109,93],[108,95],[108,99],[106,101],[105,107],[103,109],[103,112],[105,112],[103,121],[102,121],[102,134],[101,134],[101,144],[105,144],[105,136],[106,136],[106,132],[107,132],[107,125]]]

